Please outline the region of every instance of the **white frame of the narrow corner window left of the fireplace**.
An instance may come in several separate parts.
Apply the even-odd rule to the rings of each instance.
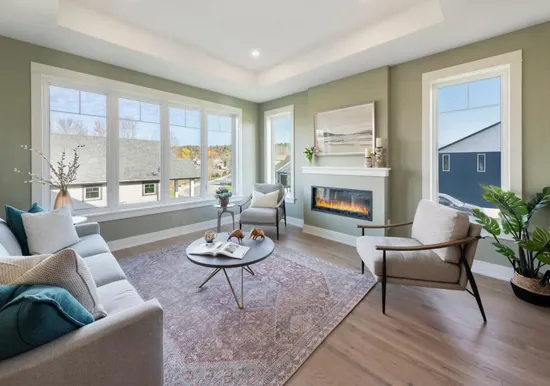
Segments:
[[[285,196],[285,201],[291,204],[294,204],[296,202],[296,196],[295,196],[295,157],[296,154],[294,149],[294,105],[284,106],[278,109],[273,109],[264,112],[264,145],[265,145],[265,157],[264,157],[264,164],[265,164],[265,180],[267,183],[275,183],[275,170],[273,165],[273,128],[271,127],[271,120],[273,118],[281,117],[290,115],[290,136],[291,136],[291,144],[290,144],[290,192],[288,192]]]

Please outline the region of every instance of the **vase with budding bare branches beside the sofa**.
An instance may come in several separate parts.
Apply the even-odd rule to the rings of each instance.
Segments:
[[[40,150],[33,149],[27,145],[21,145],[25,150],[28,150],[38,156],[46,162],[50,170],[50,176],[48,178],[42,177],[38,173],[27,172],[29,179],[24,181],[26,184],[41,184],[47,185],[52,188],[58,189],[57,196],[54,202],[54,209],[61,208],[63,206],[71,206],[72,200],[69,194],[69,186],[76,181],[78,175],[78,169],[80,169],[80,156],[78,151],[84,145],[78,145],[72,150],[72,159],[68,159],[67,152],[63,150],[59,161],[52,163]],[[14,168],[16,173],[23,173],[18,168]]]

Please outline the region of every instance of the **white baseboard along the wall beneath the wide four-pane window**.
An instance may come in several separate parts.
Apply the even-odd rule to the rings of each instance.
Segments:
[[[235,215],[235,225],[238,226],[240,215]],[[117,251],[120,249],[132,248],[138,245],[152,243],[159,240],[169,239],[171,237],[181,236],[187,233],[201,231],[205,229],[216,229],[218,224],[217,219],[198,222],[189,225],[183,225],[181,227],[165,229],[158,232],[146,233],[144,235],[127,237],[125,239],[118,239],[109,241],[107,245],[111,248],[111,251]],[[231,217],[222,217],[222,225],[231,224]]]

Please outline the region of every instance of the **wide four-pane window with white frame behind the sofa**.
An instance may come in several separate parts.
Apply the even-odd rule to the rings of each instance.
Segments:
[[[69,186],[78,214],[116,219],[205,206],[220,185],[238,196],[241,109],[37,63],[31,73],[31,145],[54,164],[78,147]],[[33,173],[48,178],[46,166],[33,156]],[[56,194],[32,186],[42,205]]]

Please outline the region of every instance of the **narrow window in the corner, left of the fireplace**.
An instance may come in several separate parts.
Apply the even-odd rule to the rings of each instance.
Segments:
[[[265,112],[266,180],[284,186],[294,201],[294,106]]]

